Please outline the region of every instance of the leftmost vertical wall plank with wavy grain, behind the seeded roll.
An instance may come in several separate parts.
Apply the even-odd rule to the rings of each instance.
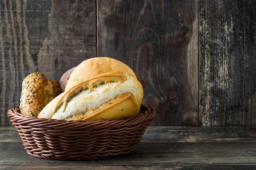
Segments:
[[[94,0],[1,1],[0,126],[19,106],[22,80],[38,71],[59,80],[68,69],[96,56]]]

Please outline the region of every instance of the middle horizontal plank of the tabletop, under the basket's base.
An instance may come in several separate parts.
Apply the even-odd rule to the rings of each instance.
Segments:
[[[54,161],[27,155],[20,143],[0,143],[0,165],[59,166],[65,162],[70,167],[101,165],[255,165],[255,143],[141,143],[130,154],[100,161]],[[150,148],[150,149],[149,149]],[[214,148],[214,149],[213,149]]]

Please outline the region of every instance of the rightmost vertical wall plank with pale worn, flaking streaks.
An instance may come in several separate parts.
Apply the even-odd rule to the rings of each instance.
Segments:
[[[256,125],[256,2],[199,0],[200,125]]]

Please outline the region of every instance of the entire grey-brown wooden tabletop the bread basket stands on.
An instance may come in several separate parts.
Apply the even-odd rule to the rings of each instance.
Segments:
[[[0,169],[255,170],[256,128],[149,126],[129,155],[95,161],[30,156],[16,129],[0,127]]]

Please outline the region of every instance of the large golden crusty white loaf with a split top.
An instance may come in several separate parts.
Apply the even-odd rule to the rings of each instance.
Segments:
[[[39,118],[64,120],[119,119],[137,115],[143,87],[126,64],[95,57],[76,66],[65,91],[53,99]]]

